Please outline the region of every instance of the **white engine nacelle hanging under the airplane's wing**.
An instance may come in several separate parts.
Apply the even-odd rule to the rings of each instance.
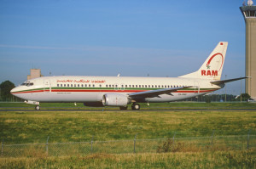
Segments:
[[[122,94],[108,93],[103,95],[102,104],[107,106],[126,106],[131,104],[131,99]]]

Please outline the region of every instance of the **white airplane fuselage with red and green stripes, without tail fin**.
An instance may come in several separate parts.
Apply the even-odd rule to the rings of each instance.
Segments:
[[[102,102],[106,93],[137,93],[161,88],[191,86],[142,102],[172,102],[220,89],[211,80],[184,77],[45,76],[15,87],[15,96],[37,102]]]

